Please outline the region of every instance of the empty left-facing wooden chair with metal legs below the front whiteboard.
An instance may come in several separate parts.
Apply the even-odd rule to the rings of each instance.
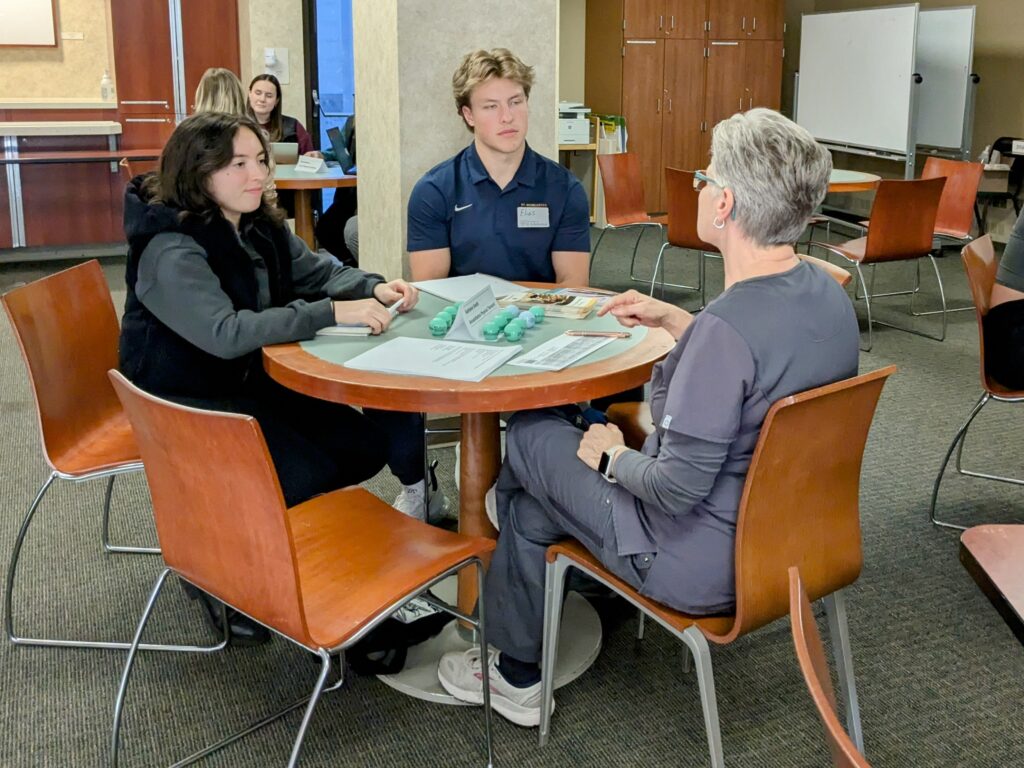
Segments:
[[[867,310],[867,346],[863,351],[869,351],[873,345],[873,324],[896,328],[900,331],[925,336],[942,341],[946,337],[946,295],[942,287],[942,275],[939,265],[932,254],[932,241],[935,232],[935,217],[938,213],[939,199],[945,184],[944,178],[913,179],[909,181],[893,181],[884,179],[879,182],[871,206],[870,226],[867,234],[842,244],[815,242],[813,245],[828,253],[842,256],[853,264],[857,271],[857,282],[860,294],[854,292],[855,298],[863,298]],[[874,293],[876,264],[892,261],[909,261],[928,257],[935,270],[938,281],[939,298],[942,303],[942,333],[938,336],[924,333],[911,328],[893,326],[889,323],[873,321],[871,317],[871,301],[885,296],[910,296],[910,310],[913,310],[913,297],[916,289],[910,291],[891,291]],[[872,267],[871,282],[864,281],[862,264]]]

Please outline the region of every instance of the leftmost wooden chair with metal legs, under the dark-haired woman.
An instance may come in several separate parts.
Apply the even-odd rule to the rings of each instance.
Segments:
[[[114,545],[110,541],[111,495],[118,475],[142,469],[138,447],[106,371],[118,365],[118,317],[96,260],[9,291],[2,297],[14,329],[36,402],[43,481],[14,540],[4,591],[4,631],[16,645],[120,648],[127,642],[27,637],[15,633],[12,608],[22,545],[40,502],[55,479],[79,483],[106,479],[100,522],[103,549],[112,553],[160,554],[159,547]],[[195,646],[151,646],[197,650]],[[209,648],[215,650],[222,645]]]

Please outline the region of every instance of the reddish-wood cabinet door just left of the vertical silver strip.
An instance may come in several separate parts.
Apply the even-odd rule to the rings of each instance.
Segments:
[[[167,3],[111,0],[114,75],[122,115],[174,114]]]

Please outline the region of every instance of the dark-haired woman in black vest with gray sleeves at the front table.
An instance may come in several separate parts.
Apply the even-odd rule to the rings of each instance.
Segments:
[[[260,348],[335,323],[380,333],[390,323],[385,304],[403,298],[408,311],[418,292],[311,253],[265,202],[268,151],[248,117],[202,113],[175,129],[159,172],[129,184],[120,368],[154,394],[256,417],[294,506],[375,475],[387,437],[354,409],[272,381]],[[219,605],[200,596],[216,628]],[[232,642],[268,639],[228,614]]]

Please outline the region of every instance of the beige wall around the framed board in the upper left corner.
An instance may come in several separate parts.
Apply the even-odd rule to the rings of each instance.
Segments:
[[[60,0],[56,48],[0,48],[0,100],[99,101],[103,70],[114,76],[110,0]]]

